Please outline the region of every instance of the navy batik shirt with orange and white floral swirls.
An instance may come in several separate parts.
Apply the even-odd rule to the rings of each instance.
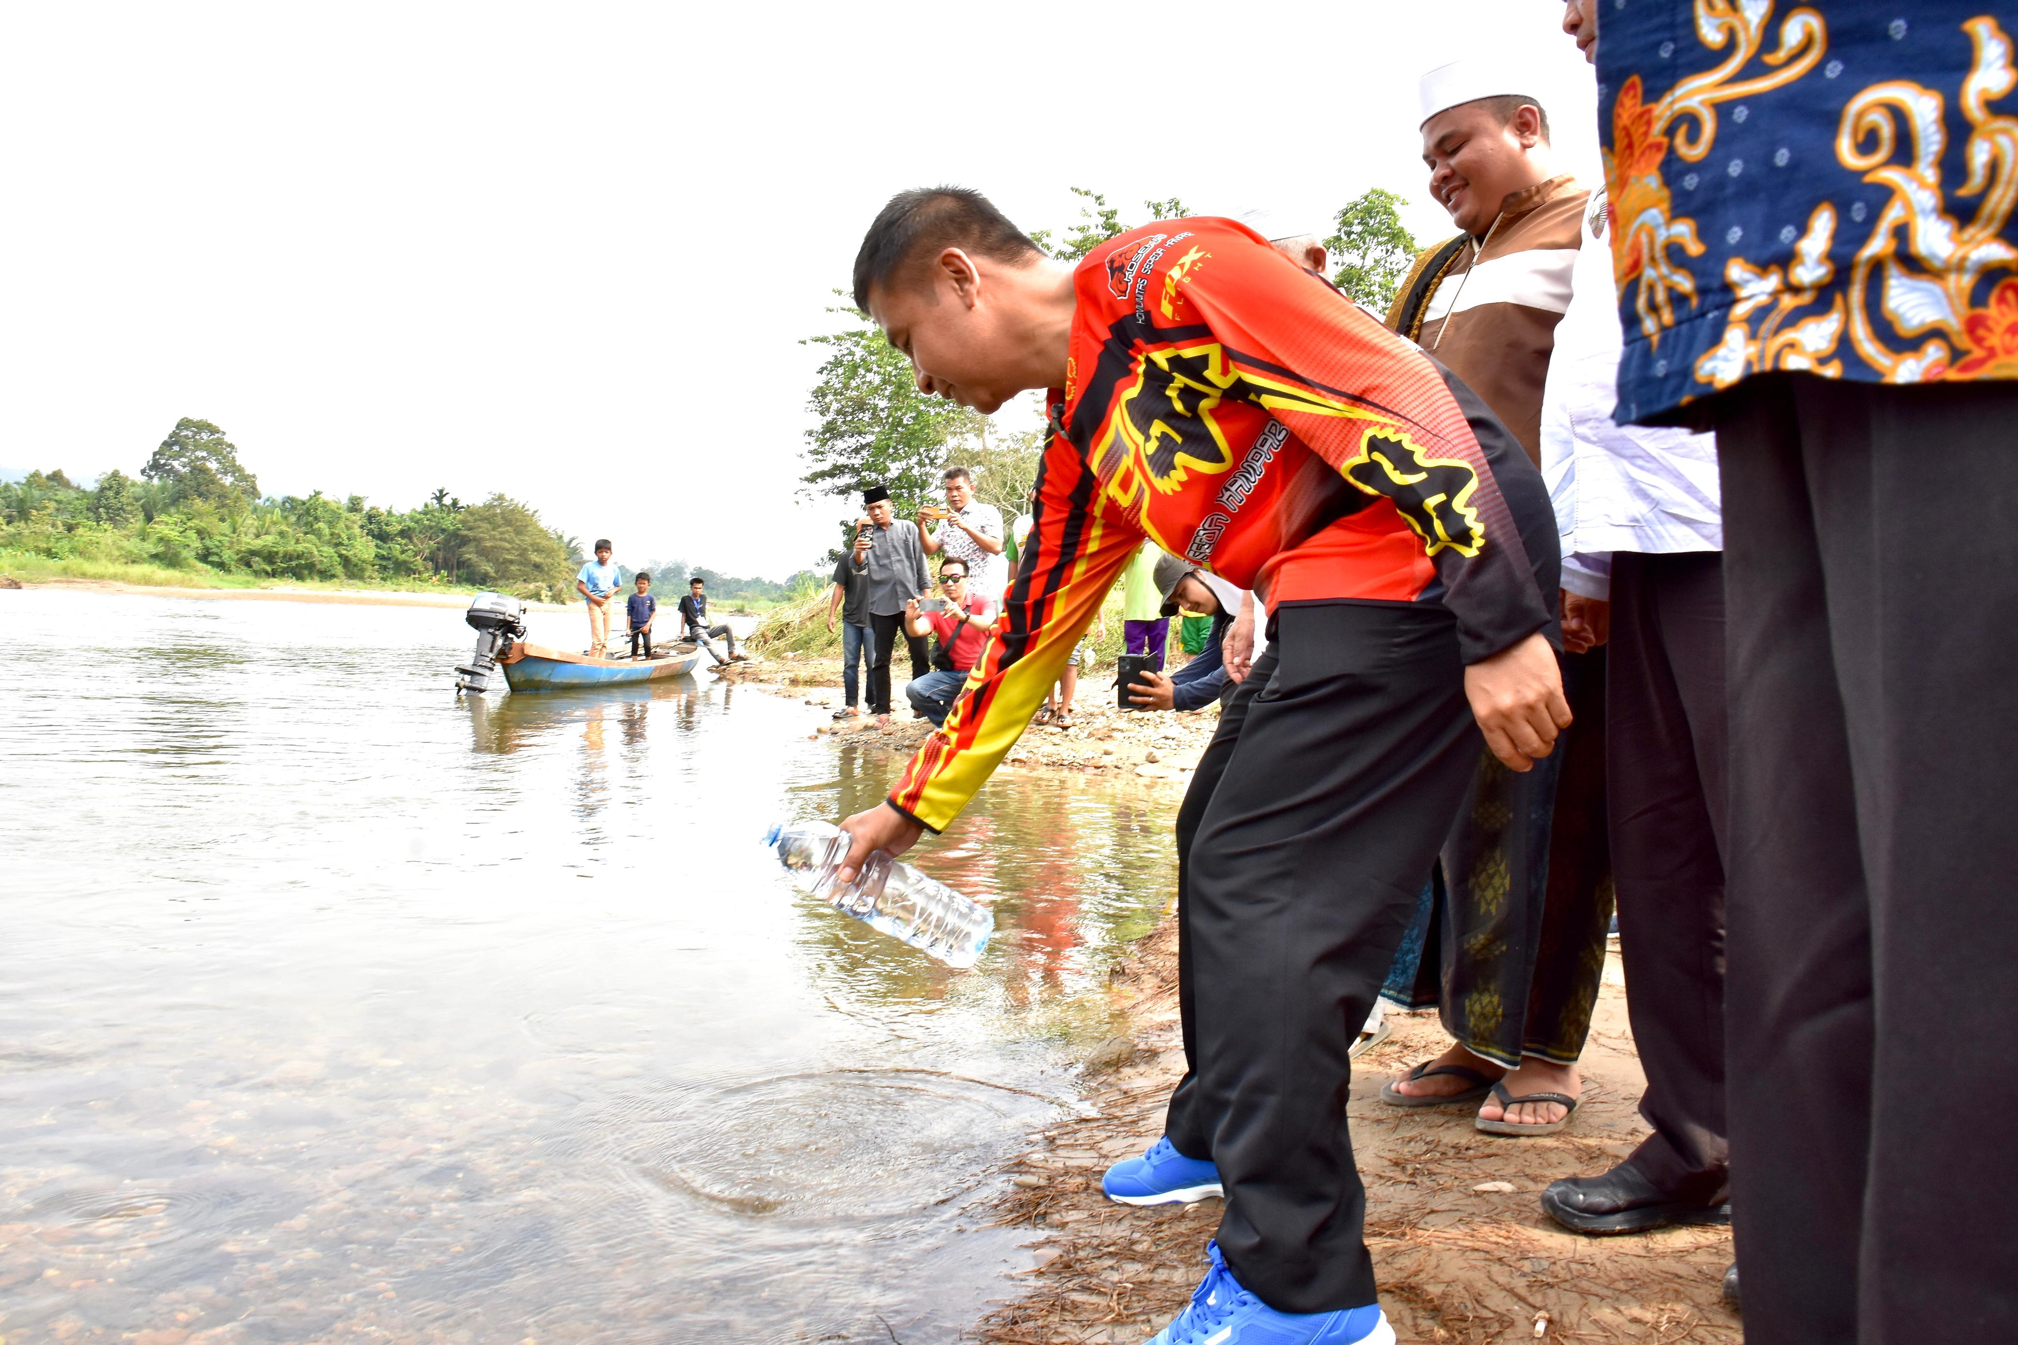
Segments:
[[[1600,4],[1618,421],[1774,369],[2018,377],[2008,2]]]

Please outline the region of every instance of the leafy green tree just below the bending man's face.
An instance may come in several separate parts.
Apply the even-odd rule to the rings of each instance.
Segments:
[[[942,397],[918,391],[910,359],[894,349],[858,309],[827,309],[856,323],[848,331],[807,337],[827,359],[807,395],[817,423],[805,432],[807,496],[856,494],[886,486],[898,514],[938,498],[946,446],[979,434],[981,417]]]

